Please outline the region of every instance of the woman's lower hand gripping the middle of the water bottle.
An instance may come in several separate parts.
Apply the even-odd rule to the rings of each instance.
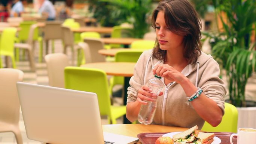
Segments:
[[[148,86],[141,86],[141,88],[138,90],[138,95],[137,95],[137,101],[140,104],[147,104],[146,101],[155,101],[155,98],[157,95],[152,94],[152,89],[150,89]],[[163,92],[160,92],[159,95],[162,95]],[[144,101],[146,100],[146,101]]]

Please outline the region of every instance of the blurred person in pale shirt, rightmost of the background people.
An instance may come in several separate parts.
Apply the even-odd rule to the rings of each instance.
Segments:
[[[47,17],[48,21],[54,21],[56,18],[56,11],[54,5],[49,0],[39,0],[39,13]]]

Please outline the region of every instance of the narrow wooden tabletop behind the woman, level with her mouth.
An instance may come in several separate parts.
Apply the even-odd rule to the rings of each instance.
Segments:
[[[101,38],[101,40],[105,44],[120,44],[120,45],[131,45],[132,42],[136,40],[143,40],[137,38],[129,38],[129,37],[119,37],[119,38]]]

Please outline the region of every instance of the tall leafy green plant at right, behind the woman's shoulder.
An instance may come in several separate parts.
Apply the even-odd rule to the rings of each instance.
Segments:
[[[214,44],[213,56],[222,63],[228,78],[230,102],[246,106],[245,87],[256,70],[255,44],[251,41],[256,24],[255,0],[213,0],[223,28],[219,33],[205,33]],[[225,13],[225,14],[223,14]]]

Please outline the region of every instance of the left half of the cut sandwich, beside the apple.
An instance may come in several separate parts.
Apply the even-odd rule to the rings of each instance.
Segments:
[[[188,144],[188,143],[192,143],[196,136],[198,135],[198,132],[196,131],[196,129],[198,129],[198,126],[195,125],[192,128],[184,131],[184,132],[180,132],[178,134],[173,135],[173,141],[176,144]]]

